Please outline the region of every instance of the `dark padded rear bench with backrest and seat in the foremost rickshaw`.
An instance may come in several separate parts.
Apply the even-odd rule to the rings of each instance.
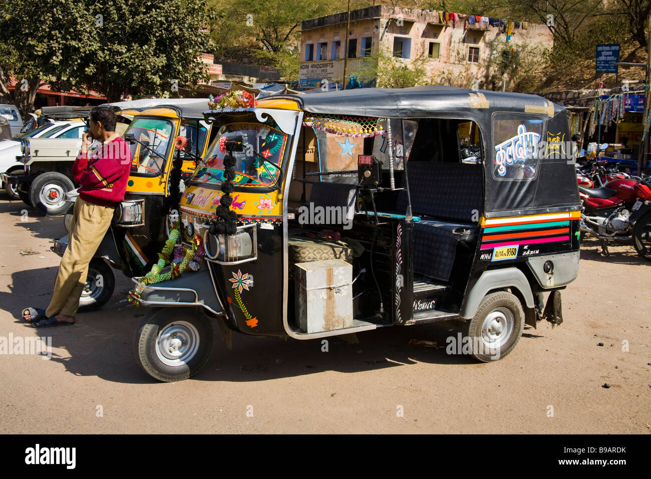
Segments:
[[[457,244],[471,243],[477,237],[477,219],[484,200],[483,167],[409,162],[407,168],[411,212],[421,217],[413,224],[414,272],[447,282]],[[396,208],[406,211],[406,192],[398,195]]]

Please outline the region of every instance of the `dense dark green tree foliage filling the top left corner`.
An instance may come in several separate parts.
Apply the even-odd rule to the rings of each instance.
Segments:
[[[169,95],[207,80],[204,0],[12,0],[0,14],[0,95],[27,113],[36,90]],[[38,20],[36,20],[38,19]],[[19,85],[10,92],[10,78]],[[23,82],[26,80],[26,83]],[[20,88],[27,85],[27,89]]]

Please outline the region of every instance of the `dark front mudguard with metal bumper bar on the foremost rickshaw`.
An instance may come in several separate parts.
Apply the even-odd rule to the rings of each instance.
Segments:
[[[132,278],[143,288],[139,297],[133,291],[129,295],[143,306],[201,306],[211,313],[223,314],[207,268],[154,284],[145,285],[141,280],[142,277]]]

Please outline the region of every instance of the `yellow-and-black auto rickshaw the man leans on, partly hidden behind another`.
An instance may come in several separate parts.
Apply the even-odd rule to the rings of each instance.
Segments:
[[[115,289],[111,267],[131,277],[144,274],[145,267],[158,260],[157,253],[167,239],[167,214],[178,203],[182,179],[194,171],[195,162],[210,144],[212,125],[203,117],[207,100],[169,101],[136,111],[124,132],[132,153],[126,194],[90,261],[79,312],[97,310],[111,298]],[[183,149],[174,148],[177,138],[183,139]],[[66,199],[74,203],[77,196],[73,190]],[[67,245],[65,236],[54,240],[51,249],[63,255]]]

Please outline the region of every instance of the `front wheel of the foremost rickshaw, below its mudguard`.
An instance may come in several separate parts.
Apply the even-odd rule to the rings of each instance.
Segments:
[[[158,381],[187,379],[201,370],[212,352],[210,321],[193,308],[156,308],[135,333],[138,364]]]

